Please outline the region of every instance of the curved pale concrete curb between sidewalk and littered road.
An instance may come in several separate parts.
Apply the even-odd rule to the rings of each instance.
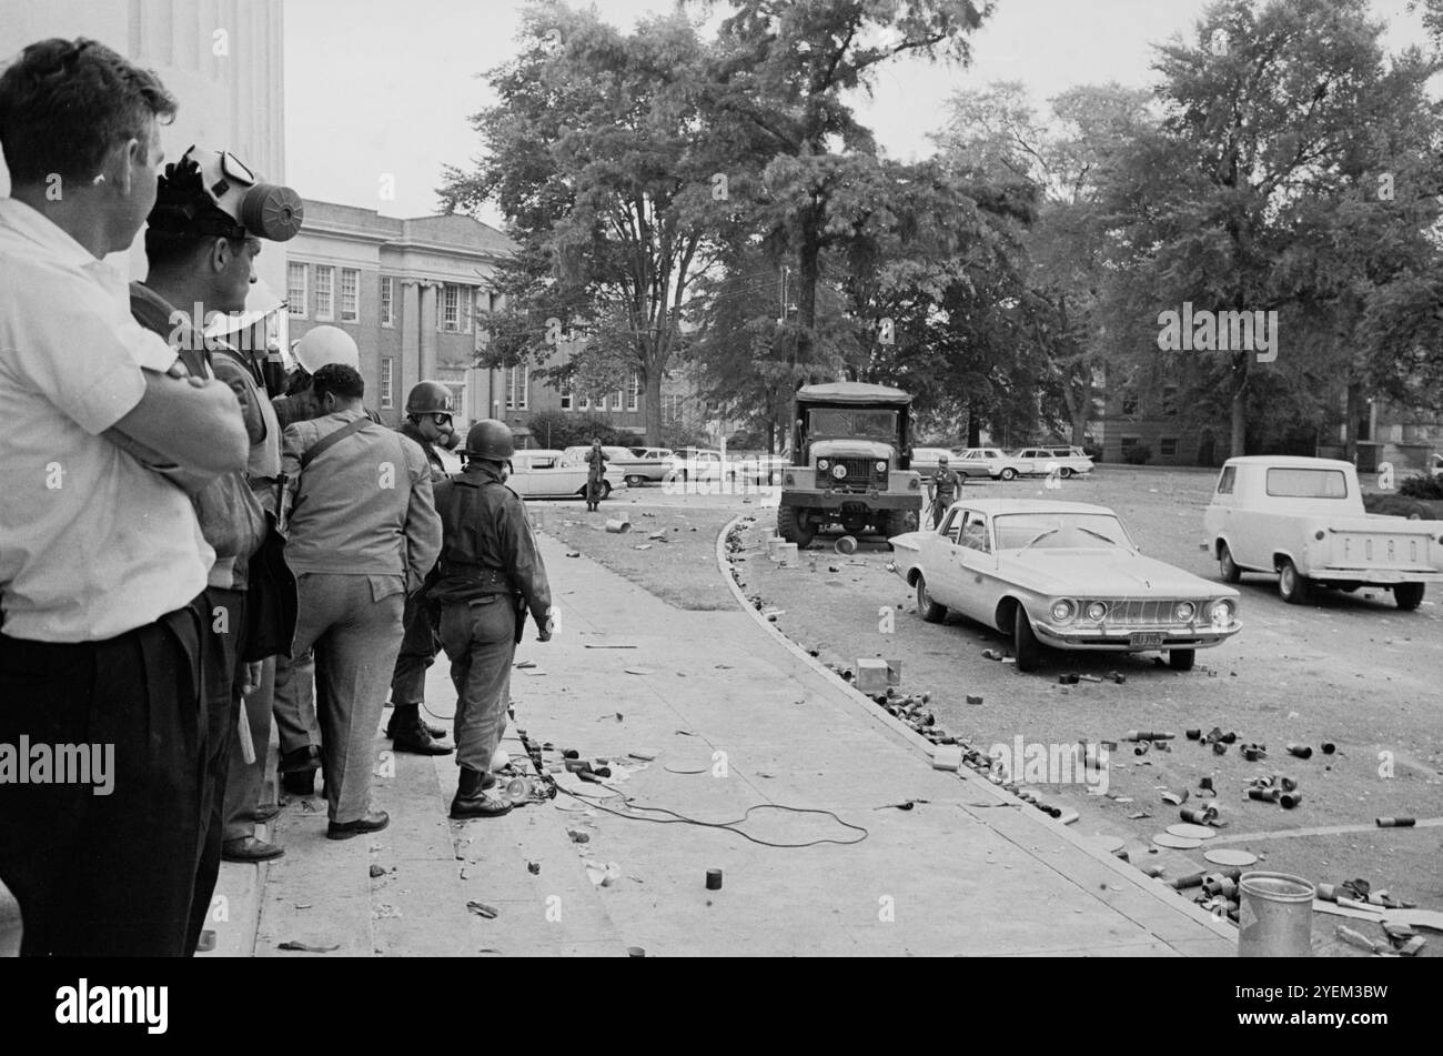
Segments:
[[[824,675],[831,684],[834,684],[837,688],[840,688],[843,691],[843,698],[847,700],[848,703],[860,707],[863,710],[863,714],[873,723],[873,726],[882,727],[887,734],[892,736],[893,740],[896,740],[896,742],[905,744],[906,747],[909,747],[913,753],[916,753],[918,756],[921,756],[926,762],[928,767],[931,767],[931,765],[932,765],[932,743],[931,742],[928,742],[925,737],[918,736],[912,729],[909,729],[908,726],[905,726],[903,723],[900,723],[899,720],[893,718],[886,711],[883,711],[882,708],[879,708],[876,705],[876,703],[870,697],[867,697],[864,692],[861,692],[860,690],[854,688],[853,685],[850,685],[850,684],[838,679],[837,675],[827,665],[824,665],[821,661],[818,661],[817,658],[814,658],[811,654],[808,654],[805,649],[802,649],[799,645],[797,645],[792,639],[789,639],[786,635],[784,635],[781,630],[778,630],[775,626],[772,626],[772,623],[769,620],[766,620],[762,616],[760,612],[758,612],[755,607],[752,607],[752,603],[747,600],[746,594],[742,591],[742,587],[739,587],[737,583],[736,583],[736,580],[732,578],[732,571],[729,568],[729,563],[727,563],[727,557],[726,557],[726,540],[727,540],[727,537],[736,529],[737,524],[740,521],[743,521],[745,518],[747,518],[747,516],[752,516],[752,515],[750,514],[737,514],[734,518],[732,518],[730,521],[727,521],[726,525],[723,525],[720,534],[717,535],[717,541],[716,541],[717,571],[722,574],[722,578],[726,581],[726,586],[732,591],[732,597],[736,599],[739,607],[743,612],[746,612],[747,616],[752,617],[753,623],[756,623],[762,630],[765,630],[766,633],[769,633],[782,648],[785,648],[786,652],[789,652],[792,656],[795,656],[797,659],[799,659],[802,664],[805,664],[808,668],[811,668],[815,674]],[[752,516],[752,519],[755,521],[756,518]],[[991,798],[993,801],[996,801],[999,804],[1013,804],[1013,802],[1016,802],[1016,804],[1023,804],[1025,805],[1025,801],[1019,799],[1017,796],[1012,795],[1010,792],[1004,792],[1001,788],[999,788],[997,785],[993,785],[990,780],[984,780],[974,770],[962,767],[957,773],[958,773],[958,776],[961,776],[961,779],[964,782],[967,782],[967,785],[968,785],[968,789],[967,789],[968,793],[983,793],[983,795],[987,795],[988,798]],[[1101,866],[1107,866],[1117,876],[1127,877],[1127,880],[1130,883],[1136,884],[1139,889],[1141,889],[1141,890],[1147,892],[1149,894],[1154,896],[1159,902],[1163,902],[1167,906],[1172,906],[1175,909],[1182,909],[1182,912],[1186,916],[1192,918],[1193,920],[1196,920],[1199,923],[1205,923],[1208,926],[1208,929],[1212,930],[1214,935],[1216,935],[1219,938],[1225,938],[1229,942],[1237,942],[1237,939],[1238,939],[1238,929],[1235,926],[1232,926],[1231,923],[1219,923],[1212,916],[1212,913],[1208,913],[1206,910],[1198,907],[1196,905],[1193,905],[1188,899],[1182,897],[1177,892],[1175,892],[1170,887],[1165,886],[1159,880],[1147,880],[1147,877],[1139,868],[1136,868],[1134,866],[1130,866],[1128,863],[1124,863],[1121,858],[1117,858],[1113,854],[1105,854],[1104,851],[1097,850],[1089,842],[1087,842],[1084,840],[1084,837],[1081,837],[1076,832],[1074,832],[1068,825],[1063,825],[1063,824],[1055,821],[1053,818],[1045,817],[1040,811],[1025,811],[1023,817],[1032,818],[1035,822],[1051,828],[1055,834],[1061,835],[1068,842],[1071,842],[1075,848],[1078,848],[1079,851],[1082,851],[1084,854],[1087,854],[1089,858],[1092,858],[1092,861],[1095,861],[1095,863],[1098,863]]]

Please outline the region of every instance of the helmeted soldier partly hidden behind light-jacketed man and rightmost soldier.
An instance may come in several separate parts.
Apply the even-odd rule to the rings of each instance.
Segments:
[[[433,489],[449,476],[446,463],[434,446],[444,447],[450,439],[453,410],[455,397],[450,388],[439,381],[423,381],[405,397],[405,421],[397,430],[414,440],[426,453],[426,462],[431,467]],[[391,675],[391,721],[385,727],[385,736],[392,740],[397,752],[418,756],[446,756],[455,750],[450,744],[437,743],[437,739],[446,736],[446,730],[429,726],[421,718],[421,705],[426,703],[426,671],[440,652],[437,639],[440,607],[426,596],[427,587],[434,583],[436,570],[431,568],[421,590],[405,599],[405,612],[401,616],[404,629],[401,652],[395,658],[395,672]]]

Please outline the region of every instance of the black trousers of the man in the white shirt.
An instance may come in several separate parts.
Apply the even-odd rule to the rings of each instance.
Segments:
[[[203,596],[104,642],[0,633],[0,744],[113,746],[94,783],[0,785],[23,955],[182,956],[205,779]]]

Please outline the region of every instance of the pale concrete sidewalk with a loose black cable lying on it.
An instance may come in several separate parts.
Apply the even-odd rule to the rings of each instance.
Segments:
[[[512,698],[514,727],[556,746],[548,760],[560,749],[615,760],[626,773],[612,785],[633,806],[722,822],[776,805],[859,828],[759,809],[737,825],[758,840],[838,841],[765,847],[620,796],[587,799],[612,792],[569,775],[576,796],[450,822],[453,757],[392,756],[378,739],[390,828],[333,842],[322,801],[287,805],[276,824],[287,854],[255,899],[257,955],[287,941],[332,955],[1235,952],[1229,925],[1082,834],[967,770],[932,770],[925,740],[750,610],[677,610],[545,537],[543,553],[560,630],[538,643],[528,626],[518,662],[535,666],[514,674]],[[427,681],[440,716],[455,701],[446,671],[442,656]],[[504,747],[524,754],[514,731]],[[909,799],[925,802],[889,808]],[[589,863],[595,876],[613,863],[613,879],[593,883]],[[707,890],[710,868],[722,890]],[[255,876],[235,870],[222,890]],[[222,939],[224,951],[250,952]]]

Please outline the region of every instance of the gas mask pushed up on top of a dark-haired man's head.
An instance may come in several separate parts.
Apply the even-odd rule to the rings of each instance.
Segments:
[[[205,208],[195,195],[176,188],[177,196],[167,196],[167,183],[199,183]],[[179,201],[177,201],[179,198]],[[268,238],[284,242],[296,237],[304,216],[300,195],[278,183],[266,183],[228,150],[190,147],[175,166],[166,167],[157,212],[179,212],[179,216],[156,216],[152,224],[172,229],[221,238]]]

